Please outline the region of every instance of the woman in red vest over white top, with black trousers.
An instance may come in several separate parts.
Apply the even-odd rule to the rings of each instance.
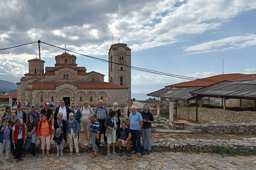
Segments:
[[[16,162],[23,161],[21,157],[23,152],[23,143],[26,139],[26,125],[23,123],[23,119],[19,119],[12,128],[12,143],[15,143],[15,159]]]

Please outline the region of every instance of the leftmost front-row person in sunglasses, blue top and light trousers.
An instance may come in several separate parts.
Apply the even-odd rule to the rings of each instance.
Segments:
[[[3,156],[3,149],[6,149],[6,161],[11,162],[10,159],[10,150],[11,150],[11,139],[12,127],[8,124],[9,120],[7,117],[4,117],[3,124],[0,125],[0,164],[3,164],[2,156]]]

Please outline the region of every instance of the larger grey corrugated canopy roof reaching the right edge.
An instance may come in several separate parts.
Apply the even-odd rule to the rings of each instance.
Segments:
[[[256,80],[251,81],[223,81],[208,87],[201,87],[191,91],[192,95],[208,97],[229,97],[235,99],[256,99]]]

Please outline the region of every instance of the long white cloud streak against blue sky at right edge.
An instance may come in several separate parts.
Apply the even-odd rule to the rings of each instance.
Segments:
[[[250,34],[249,36],[228,37],[221,40],[204,42],[198,45],[186,47],[183,51],[185,52],[199,51],[199,52],[192,52],[192,53],[201,53],[202,51],[210,52],[213,50],[217,51],[217,49],[212,49],[212,48],[218,48],[224,45],[228,45],[231,47],[223,48],[223,50],[242,48],[247,45],[256,45],[256,35]],[[192,54],[192,53],[188,53],[188,54]]]

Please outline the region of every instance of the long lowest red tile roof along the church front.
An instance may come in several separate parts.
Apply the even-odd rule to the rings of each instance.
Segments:
[[[43,82],[43,89],[55,89],[55,85],[65,82]],[[78,85],[78,89],[128,89],[129,87],[107,82],[70,82]],[[34,82],[32,89],[41,89],[41,82]]]

